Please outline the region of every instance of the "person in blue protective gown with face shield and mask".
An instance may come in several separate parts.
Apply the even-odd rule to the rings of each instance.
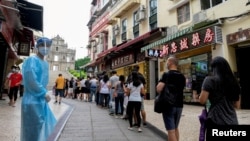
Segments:
[[[37,40],[37,54],[23,63],[24,94],[21,104],[21,141],[46,141],[54,130],[56,118],[48,102],[48,63],[44,60],[50,51],[52,40]]]

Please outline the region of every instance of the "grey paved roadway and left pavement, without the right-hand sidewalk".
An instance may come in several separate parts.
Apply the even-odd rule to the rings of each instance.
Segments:
[[[73,99],[62,99],[54,104],[54,97],[49,105],[58,120],[54,133],[49,141],[163,141],[150,126],[128,130],[127,120],[110,116],[108,109],[96,106],[95,103]],[[0,101],[0,141],[20,141],[21,98],[16,107],[8,105],[8,98]],[[153,129],[153,127],[152,127]]]

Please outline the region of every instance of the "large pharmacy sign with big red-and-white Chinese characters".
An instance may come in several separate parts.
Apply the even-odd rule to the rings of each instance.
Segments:
[[[195,48],[222,43],[222,31],[218,26],[208,27],[165,43],[160,50],[149,49],[146,56],[164,57]]]

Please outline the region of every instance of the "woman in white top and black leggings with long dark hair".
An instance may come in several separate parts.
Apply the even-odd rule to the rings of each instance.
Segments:
[[[127,86],[127,94],[129,94],[128,98],[128,106],[127,106],[127,114],[129,119],[129,130],[133,130],[133,112],[135,112],[137,123],[138,123],[138,132],[141,132],[141,94],[145,95],[145,90],[142,82],[138,77],[137,72],[132,72],[132,82],[130,82]]]

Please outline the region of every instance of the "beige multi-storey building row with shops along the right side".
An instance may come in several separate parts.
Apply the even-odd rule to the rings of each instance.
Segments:
[[[147,98],[166,71],[169,55],[179,59],[187,85],[184,101],[197,103],[213,57],[225,57],[241,87],[241,106],[250,108],[250,74],[243,58],[250,51],[250,5],[232,0],[92,1],[87,68],[117,70],[127,76],[133,65],[147,79]],[[94,73],[94,72],[93,72]]]

